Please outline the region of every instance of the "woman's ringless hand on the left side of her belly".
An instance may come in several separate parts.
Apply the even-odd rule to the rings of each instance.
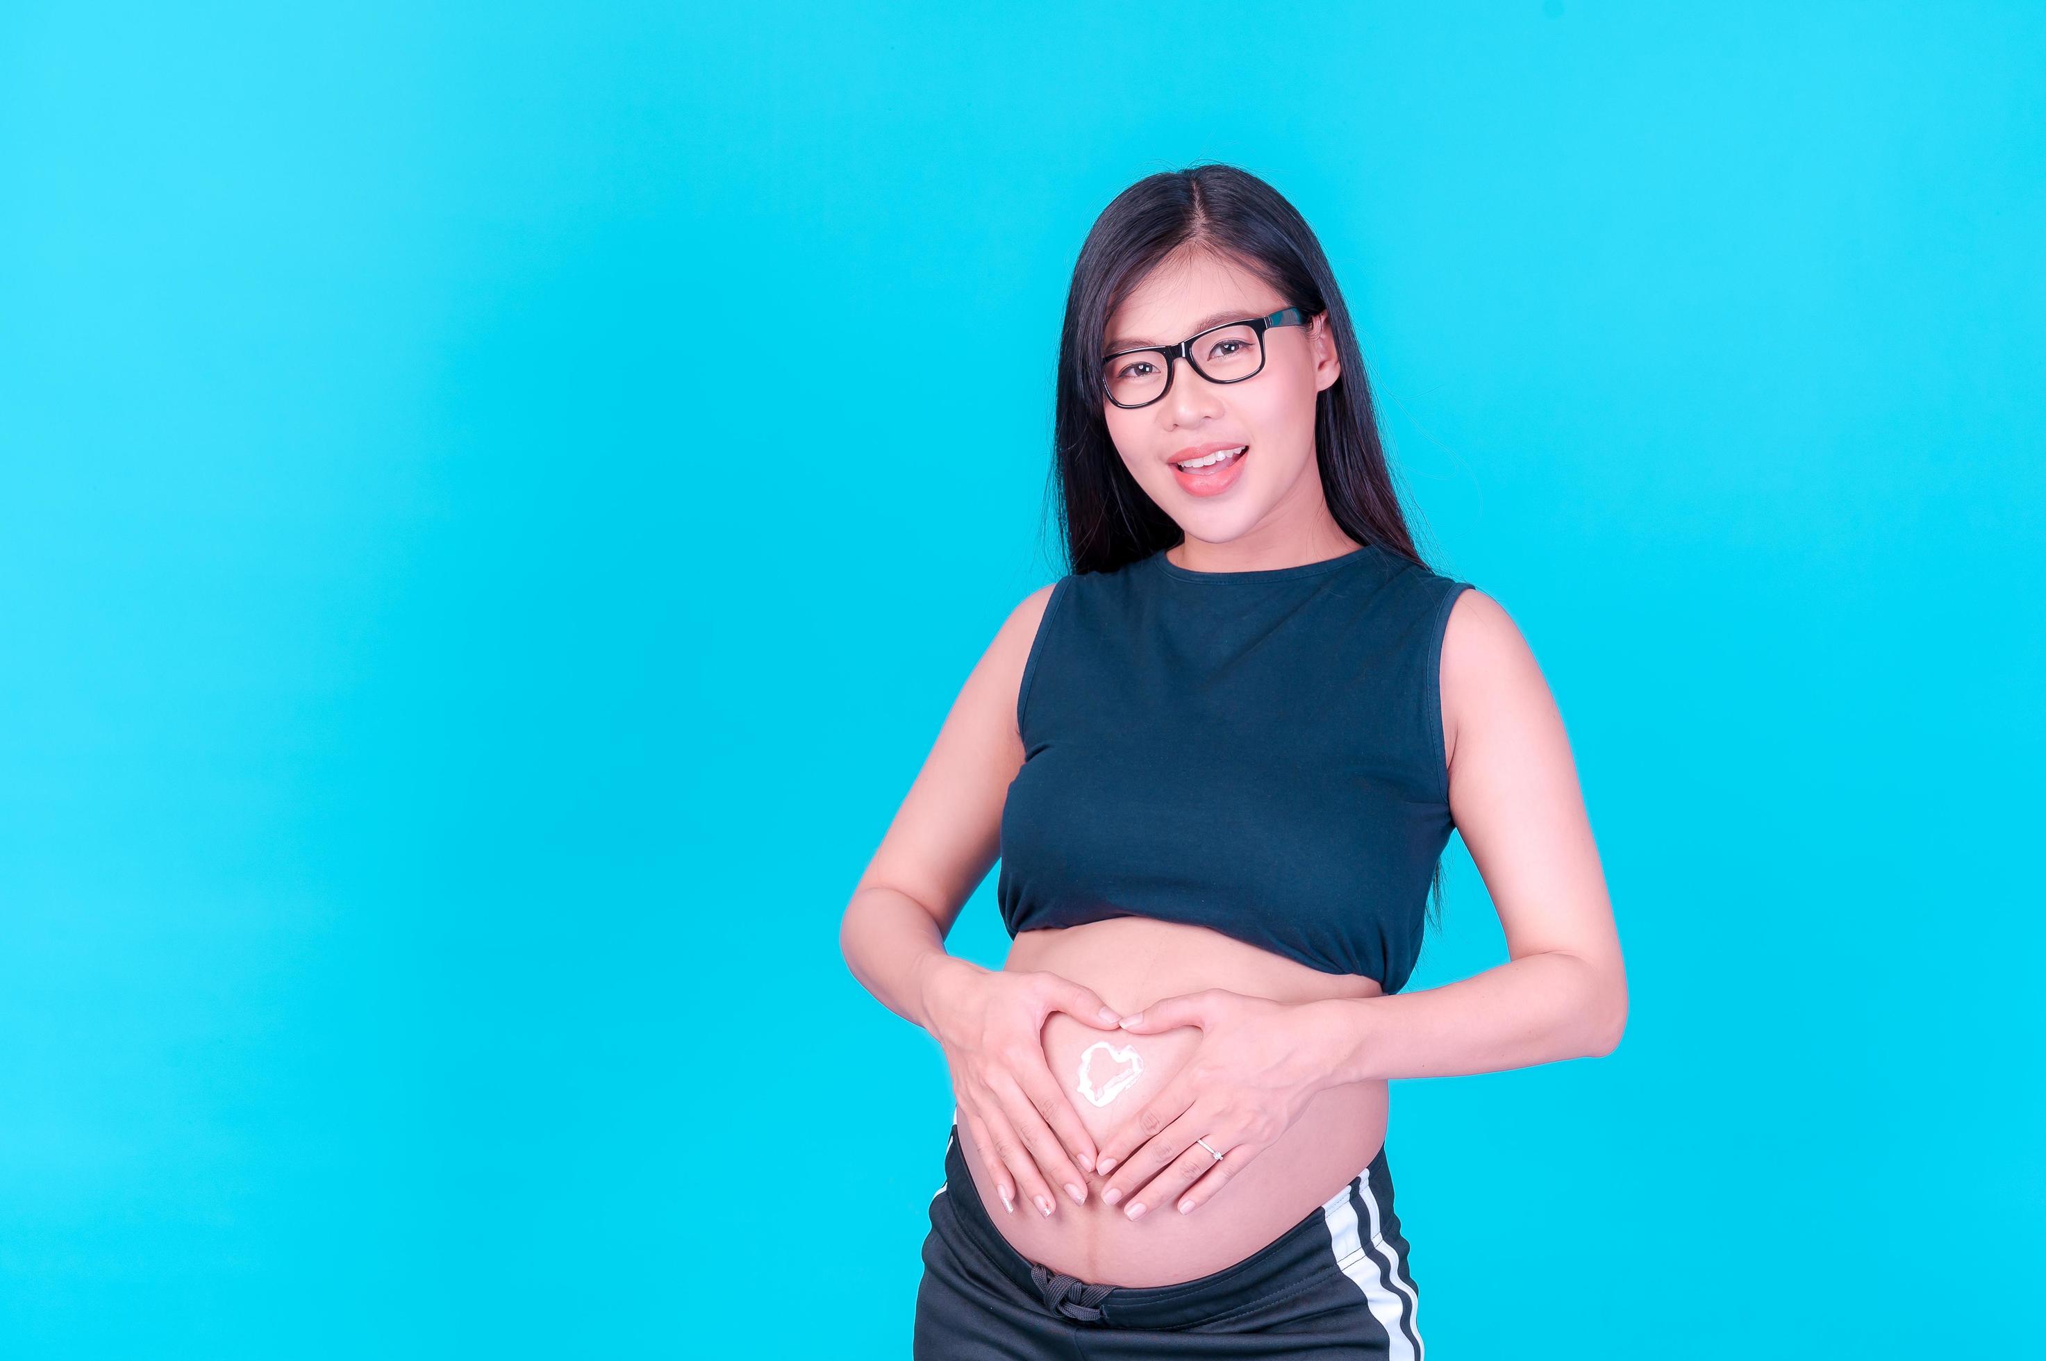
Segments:
[[[953,956],[933,962],[923,986],[927,1029],[945,1050],[951,1091],[980,1160],[1015,1214],[1023,1189],[1041,1214],[1056,1203],[1046,1177],[1086,1203],[1095,1140],[1043,1058],[1043,1021],[1064,1011],[1097,1029],[1121,1019],[1093,989],[1048,972],[1005,972]],[[1119,1034],[1119,1031],[1117,1031]]]

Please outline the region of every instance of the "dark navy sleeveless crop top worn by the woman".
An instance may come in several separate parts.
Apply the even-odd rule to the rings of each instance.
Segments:
[[[1156,917],[1406,986],[1453,827],[1438,667],[1465,587],[1377,544],[1060,577],[1017,692],[1009,935]]]

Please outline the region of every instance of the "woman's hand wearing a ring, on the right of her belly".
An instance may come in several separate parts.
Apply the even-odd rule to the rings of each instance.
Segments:
[[[1326,1003],[1275,1003],[1226,989],[1166,997],[1123,1017],[1154,1036],[1197,1025],[1201,1046],[1129,1122],[1101,1146],[1095,1167],[1113,1173],[1101,1199],[1127,1201],[1131,1220],[1166,1201],[1187,1214],[1271,1148],[1318,1091],[1334,1083],[1322,1040]],[[1205,1138],[1217,1160],[1195,1140]]]

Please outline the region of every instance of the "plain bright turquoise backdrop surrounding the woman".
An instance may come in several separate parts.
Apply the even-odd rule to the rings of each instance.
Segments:
[[[1228,160],[1627,946],[1610,1058],[1393,1089],[1434,1353],[2015,1355],[2042,68],[2032,4],[8,6],[0,1351],[906,1355],[951,1101],[839,913],[1060,571],[1082,235]],[[1453,841],[1412,986],[1504,958]]]

